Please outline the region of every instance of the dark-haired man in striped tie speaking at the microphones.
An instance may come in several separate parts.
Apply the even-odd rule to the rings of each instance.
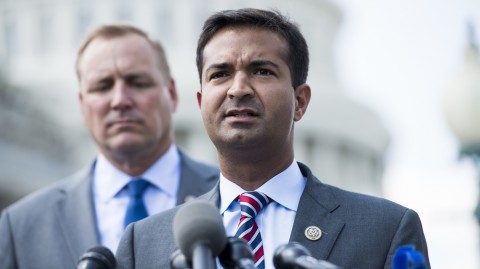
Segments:
[[[275,249],[291,241],[342,268],[391,268],[406,244],[428,265],[416,212],[324,184],[296,162],[294,126],[311,98],[308,62],[304,37],[279,13],[227,10],[207,19],[197,46],[197,98],[221,175],[199,199],[219,208],[228,236],[249,241],[257,268],[274,268]],[[130,225],[118,268],[168,268],[175,213]]]

